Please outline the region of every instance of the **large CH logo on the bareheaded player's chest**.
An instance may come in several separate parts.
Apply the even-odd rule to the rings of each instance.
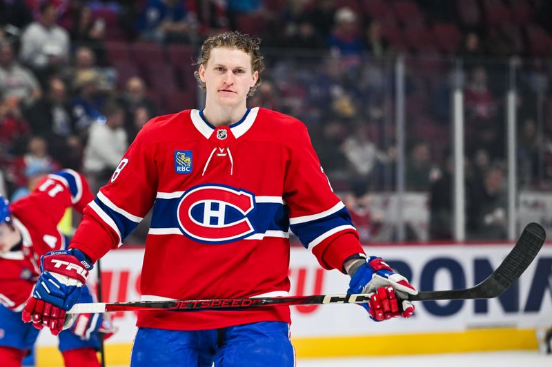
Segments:
[[[255,233],[248,216],[255,195],[242,189],[208,184],[184,192],[177,208],[180,230],[193,240],[222,244]]]

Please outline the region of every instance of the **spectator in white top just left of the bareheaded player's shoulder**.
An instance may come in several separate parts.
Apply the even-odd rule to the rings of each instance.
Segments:
[[[84,148],[83,168],[92,192],[107,182],[128,148],[123,107],[110,100],[103,108],[103,115],[105,119],[90,126]]]

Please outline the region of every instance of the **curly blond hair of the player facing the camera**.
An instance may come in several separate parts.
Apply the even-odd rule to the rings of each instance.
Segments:
[[[236,50],[242,50],[246,54],[251,56],[251,70],[253,72],[259,72],[259,78],[257,83],[250,88],[247,96],[253,96],[255,90],[261,84],[261,72],[264,70],[264,57],[259,51],[259,45],[261,44],[261,39],[255,36],[250,36],[248,34],[242,34],[237,31],[226,32],[217,34],[215,36],[210,36],[206,39],[201,45],[201,50],[199,52],[199,59],[193,65],[207,65],[209,61],[211,50],[213,48],[230,48]],[[199,70],[194,72],[194,76],[197,79],[197,83],[201,90],[206,92],[205,83],[201,81],[199,77]]]

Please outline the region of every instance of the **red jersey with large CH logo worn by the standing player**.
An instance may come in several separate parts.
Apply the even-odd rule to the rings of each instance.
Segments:
[[[147,123],[84,211],[70,247],[93,261],[153,207],[142,300],[286,295],[289,229],[326,269],[362,254],[306,127],[269,109],[214,127],[201,111]],[[139,313],[138,326],[197,330],[290,322],[288,307]]]

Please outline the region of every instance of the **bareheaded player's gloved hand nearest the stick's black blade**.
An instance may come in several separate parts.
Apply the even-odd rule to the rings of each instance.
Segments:
[[[383,321],[399,316],[411,317],[414,305],[408,301],[408,295],[416,295],[418,291],[382,258],[372,256],[351,277],[347,294],[357,293],[371,294],[370,301],[360,305],[366,308],[371,319]]]

